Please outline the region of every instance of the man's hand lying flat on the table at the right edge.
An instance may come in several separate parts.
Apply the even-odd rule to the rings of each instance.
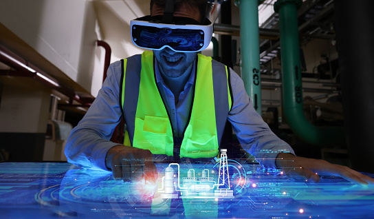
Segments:
[[[296,180],[305,177],[312,183],[318,183],[320,181],[318,175],[326,175],[340,176],[358,185],[374,185],[373,178],[360,174],[349,167],[333,165],[325,160],[294,156],[289,153],[278,154],[276,157],[276,166],[282,169],[287,176]]]

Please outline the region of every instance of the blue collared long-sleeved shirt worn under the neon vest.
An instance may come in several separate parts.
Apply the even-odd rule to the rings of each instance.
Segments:
[[[181,91],[179,97],[175,97],[162,79],[156,59],[155,62],[157,85],[162,87],[160,91],[162,98],[166,100],[166,109],[175,129],[173,132],[177,136],[183,136],[183,130],[190,113],[194,90],[191,88],[195,86],[195,74],[190,74],[184,90]],[[195,62],[192,72],[195,72]],[[74,127],[67,140],[65,154],[69,163],[78,167],[107,169],[105,166],[107,152],[111,147],[118,145],[109,139],[121,119],[118,101],[121,74],[120,61],[109,66],[107,79],[105,79],[96,100],[89,107],[82,121]],[[228,121],[241,143],[241,147],[252,154],[261,165],[276,168],[276,156],[281,152],[294,154],[294,150],[278,138],[263,121],[263,118],[257,114],[252,101],[245,92],[243,81],[232,69],[230,69],[230,81],[233,103],[228,114]],[[175,98],[178,98],[177,105],[175,105]]]

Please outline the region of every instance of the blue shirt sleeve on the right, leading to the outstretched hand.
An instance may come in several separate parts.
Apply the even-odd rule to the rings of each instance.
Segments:
[[[233,103],[228,121],[246,152],[267,168],[276,168],[275,159],[282,152],[294,154],[285,141],[276,136],[263,118],[254,110],[240,76],[230,69]]]

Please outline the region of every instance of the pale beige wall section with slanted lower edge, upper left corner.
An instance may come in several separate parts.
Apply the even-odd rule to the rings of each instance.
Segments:
[[[97,40],[91,1],[0,0],[0,22],[91,91]]]

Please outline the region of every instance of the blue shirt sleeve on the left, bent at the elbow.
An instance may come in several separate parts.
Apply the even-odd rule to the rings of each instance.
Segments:
[[[110,138],[120,123],[119,105],[121,62],[109,65],[107,79],[89,110],[67,140],[67,161],[78,167],[107,170],[105,157],[109,149],[118,143]]]

